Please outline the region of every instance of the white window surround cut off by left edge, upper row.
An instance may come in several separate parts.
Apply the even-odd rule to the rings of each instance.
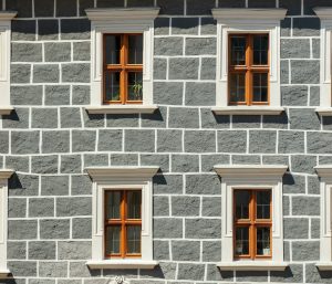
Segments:
[[[0,115],[9,115],[10,105],[10,38],[14,11],[0,11]]]

